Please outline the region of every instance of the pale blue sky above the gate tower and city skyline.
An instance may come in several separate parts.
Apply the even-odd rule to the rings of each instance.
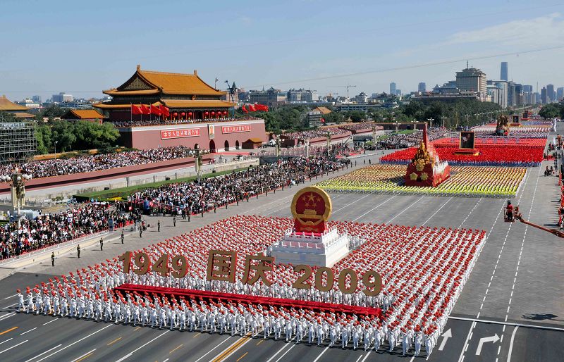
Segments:
[[[13,100],[102,96],[137,64],[353,95],[429,89],[473,58],[489,78],[508,61],[515,82],[564,85],[564,1],[4,0],[0,33],[0,94]],[[486,58],[498,54],[510,55]]]

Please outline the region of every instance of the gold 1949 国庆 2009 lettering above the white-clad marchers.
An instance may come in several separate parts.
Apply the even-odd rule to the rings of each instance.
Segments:
[[[119,258],[120,261],[123,261],[123,273],[125,274],[128,274],[132,269],[132,257],[133,252],[126,251]],[[245,257],[245,270],[241,281],[247,285],[253,285],[260,279],[264,285],[269,287],[272,282],[268,280],[265,273],[273,270],[273,263],[274,257],[272,256],[247,255]],[[137,275],[145,275],[149,272],[149,270],[151,270],[163,277],[170,273],[172,277],[181,278],[185,277],[188,273],[188,259],[183,255],[173,256],[169,263],[168,254],[162,254],[156,261],[154,261],[154,263],[151,263],[151,258],[141,251],[135,254],[133,264],[135,264],[133,273]],[[236,251],[210,250],[206,279],[234,283],[236,268]],[[251,271],[254,273],[252,274]],[[292,287],[297,289],[311,289],[312,285],[308,283],[308,280],[313,274],[312,268],[307,265],[299,265],[294,267],[294,271],[302,274],[297,280],[295,280]],[[350,268],[341,270],[341,273],[339,273],[337,278],[339,290],[341,290],[343,294],[352,294],[356,292],[358,279],[359,275],[357,275],[355,270]],[[335,275],[333,274],[333,270],[331,268],[317,268],[314,275],[315,289],[319,290],[319,292],[329,292],[329,290],[333,289],[334,282]],[[368,270],[362,275],[362,285],[364,285],[362,292],[365,295],[369,297],[378,295],[382,289],[382,279],[380,274],[374,270]]]

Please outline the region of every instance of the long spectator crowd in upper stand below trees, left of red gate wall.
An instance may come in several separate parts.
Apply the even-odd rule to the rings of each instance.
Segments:
[[[190,156],[195,156],[195,151],[185,146],[159,147],[157,149],[123,151],[116,154],[96,154],[27,163],[9,163],[0,166],[0,175],[11,175],[16,168],[19,168],[20,172],[27,173],[33,178],[41,178],[144,165]]]

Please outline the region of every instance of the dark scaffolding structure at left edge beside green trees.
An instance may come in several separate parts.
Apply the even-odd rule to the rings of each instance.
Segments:
[[[37,152],[35,121],[5,122],[0,116],[0,164],[29,161]]]

